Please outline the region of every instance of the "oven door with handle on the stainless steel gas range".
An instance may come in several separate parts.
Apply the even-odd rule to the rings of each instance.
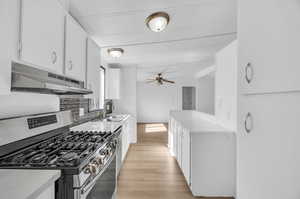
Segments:
[[[104,171],[80,189],[80,199],[112,199],[116,191],[116,154]]]

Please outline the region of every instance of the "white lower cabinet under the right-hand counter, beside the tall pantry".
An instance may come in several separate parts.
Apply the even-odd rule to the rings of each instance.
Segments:
[[[216,129],[216,128],[214,128]],[[194,196],[232,197],[236,187],[236,136],[230,131],[191,131],[170,118],[171,153]]]

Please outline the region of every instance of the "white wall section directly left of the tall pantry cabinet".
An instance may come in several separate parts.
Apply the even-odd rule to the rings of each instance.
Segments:
[[[237,130],[237,41],[216,55],[215,115],[226,128]]]

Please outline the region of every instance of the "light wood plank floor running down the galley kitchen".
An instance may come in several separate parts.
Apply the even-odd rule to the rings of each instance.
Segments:
[[[168,152],[167,131],[157,127],[138,124],[138,144],[130,146],[121,169],[118,199],[194,198],[176,160]]]

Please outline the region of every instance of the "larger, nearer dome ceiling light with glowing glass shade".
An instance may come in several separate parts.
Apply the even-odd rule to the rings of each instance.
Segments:
[[[163,31],[170,22],[170,16],[165,12],[156,12],[146,19],[147,27],[153,32]]]

